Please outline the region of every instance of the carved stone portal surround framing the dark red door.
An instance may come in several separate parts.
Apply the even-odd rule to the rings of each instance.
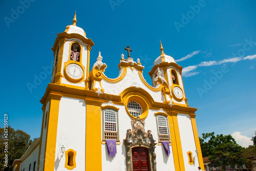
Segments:
[[[132,148],[137,146],[148,149],[148,163],[150,163],[151,170],[156,171],[156,140],[154,140],[151,130],[145,132],[145,121],[139,117],[132,119],[131,124],[133,129],[127,130],[126,138],[123,140],[126,150],[127,171],[133,170]]]

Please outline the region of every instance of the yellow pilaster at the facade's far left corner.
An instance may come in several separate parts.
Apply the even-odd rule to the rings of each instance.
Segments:
[[[59,102],[62,95],[50,93],[50,109],[48,117],[45,159],[43,170],[54,170],[54,160],[51,160],[55,155],[56,138],[57,138],[57,126],[59,115]],[[47,164],[46,164],[47,161]]]

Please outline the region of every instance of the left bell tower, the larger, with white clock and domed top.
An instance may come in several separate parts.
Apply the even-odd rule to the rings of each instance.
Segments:
[[[82,28],[76,26],[76,22],[75,14],[73,25],[57,34],[52,47],[54,64],[51,83],[88,90],[90,51],[94,43],[86,37]]]

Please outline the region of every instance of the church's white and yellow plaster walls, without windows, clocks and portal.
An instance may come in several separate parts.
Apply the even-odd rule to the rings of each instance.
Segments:
[[[145,82],[142,75],[144,67],[139,63],[140,60],[135,62],[129,58],[125,61],[123,55],[118,65],[121,68],[118,78],[109,79],[104,75],[106,64],[102,62],[104,59],[100,53],[97,61],[96,57],[89,59],[91,46],[94,44],[81,28],[75,26],[75,23],[74,18],[73,25],[58,34],[52,48],[55,53],[58,51],[62,53],[58,54],[57,60],[55,59],[58,64],[60,63],[56,65],[60,67],[57,68],[59,71],[53,72],[52,83],[48,85],[41,99],[44,116],[40,142],[26,160],[20,159],[19,169],[27,168],[29,163],[35,160],[36,164],[39,162],[38,171],[133,170],[128,166],[127,143],[124,143],[128,135],[127,130],[134,129],[131,121],[136,119],[127,110],[127,103],[131,101],[141,105],[142,114],[139,117],[144,119],[144,130],[150,130],[156,140],[152,142],[150,134],[147,133],[147,143],[154,146],[154,151],[148,150],[148,155],[156,157],[155,159],[152,157],[152,160],[148,157],[148,170],[198,170],[199,165],[203,166],[197,128],[193,120],[197,109],[188,107],[181,76],[182,67],[174,58],[163,55],[161,46],[162,54],[154,62],[151,71],[153,86]],[[82,60],[75,63],[85,67],[84,75],[77,81],[65,75],[67,62],[74,63],[70,61],[72,42],[81,45]],[[56,56],[55,54],[55,58]],[[89,60],[96,61],[90,73],[87,71]],[[176,70],[179,85],[173,84],[170,69]],[[174,96],[174,86],[180,87],[183,92],[182,98]],[[104,134],[102,110],[108,107],[117,110],[118,113],[116,126],[119,139],[116,145],[117,153],[112,159],[102,138]],[[166,118],[169,156],[166,155],[162,141],[159,139],[156,119],[159,115]],[[61,147],[65,147],[64,153],[61,153]],[[76,154],[73,156],[68,154],[70,150]],[[196,150],[199,150],[199,154],[195,154]],[[193,164],[188,162],[187,152],[192,152],[193,159],[190,160],[193,160]],[[155,164],[156,166],[153,166]]]

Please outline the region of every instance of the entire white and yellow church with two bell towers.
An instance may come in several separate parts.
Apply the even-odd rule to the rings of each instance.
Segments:
[[[143,78],[140,59],[129,46],[121,55],[119,76],[107,67],[83,29],[67,26],[52,50],[52,80],[42,103],[40,138],[36,138],[14,170],[198,170],[203,168],[195,120],[187,104],[182,66],[161,54]],[[95,60],[89,70],[90,60]]]

